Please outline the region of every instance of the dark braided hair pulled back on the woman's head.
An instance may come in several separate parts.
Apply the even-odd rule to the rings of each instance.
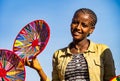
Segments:
[[[95,14],[95,12],[93,12],[91,9],[88,9],[88,8],[80,8],[78,9],[75,13],[74,13],[74,17],[80,13],[83,13],[83,14],[89,14],[91,19],[93,20],[93,22],[91,23],[92,26],[95,26],[96,23],[97,23],[97,16]]]

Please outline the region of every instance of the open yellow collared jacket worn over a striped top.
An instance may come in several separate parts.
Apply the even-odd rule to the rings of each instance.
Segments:
[[[88,64],[90,81],[109,81],[115,76],[114,61],[108,46],[90,41],[83,55]],[[54,53],[52,81],[65,81],[65,70],[71,59],[69,46]]]

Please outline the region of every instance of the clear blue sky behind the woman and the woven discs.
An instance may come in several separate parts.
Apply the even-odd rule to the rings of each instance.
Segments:
[[[71,19],[83,7],[92,9],[98,16],[96,29],[89,39],[110,47],[116,74],[120,74],[120,0],[0,0],[0,49],[12,50],[16,35],[26,24],[45,20],[51,36],[38,59],[51,78],[52,55],[72,41]],[[26,67],[26,81],[39,81],[37,72],[29,67]]]

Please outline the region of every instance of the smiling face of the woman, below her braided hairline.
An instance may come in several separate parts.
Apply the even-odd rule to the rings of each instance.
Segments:
[[[79,13],[75,15],[71,23],[71,34],[74,40],[84,40],[94,30],[89,14]]]

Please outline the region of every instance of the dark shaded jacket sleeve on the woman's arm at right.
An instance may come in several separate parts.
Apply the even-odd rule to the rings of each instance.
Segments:
[[[115,65],[110,49],[104,51],[104,81],[109,81],[115,77]]]

